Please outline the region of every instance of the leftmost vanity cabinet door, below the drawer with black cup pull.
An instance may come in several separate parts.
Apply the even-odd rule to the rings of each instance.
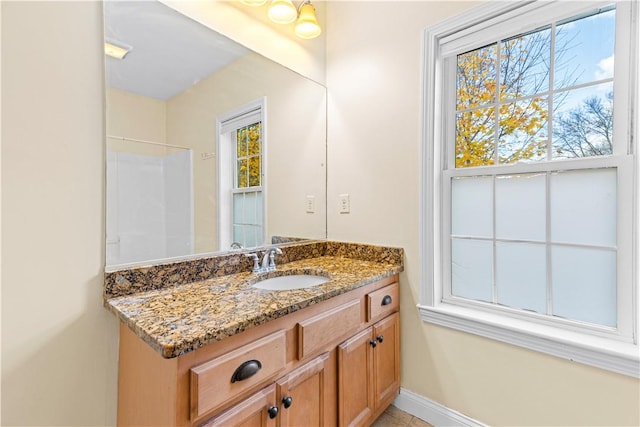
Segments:
[[[276,386],[272,384],[211,418],[202,427],[275,427],[278,414],[275,403]]]

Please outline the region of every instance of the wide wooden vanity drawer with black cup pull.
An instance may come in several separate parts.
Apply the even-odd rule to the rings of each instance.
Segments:
[[[286,333],[274,332],[191,368],[191,419],[275,377],[286,365]]]

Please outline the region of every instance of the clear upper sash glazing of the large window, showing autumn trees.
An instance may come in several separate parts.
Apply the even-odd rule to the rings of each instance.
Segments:
[[[458,54],[452,166],[612,154],[614,39],[609,6]]]

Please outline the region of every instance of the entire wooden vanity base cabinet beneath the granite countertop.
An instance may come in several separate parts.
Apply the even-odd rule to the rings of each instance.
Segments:
[[[163,359],[120,328],[118,425],[369,425],[399,391],[398,277]]]

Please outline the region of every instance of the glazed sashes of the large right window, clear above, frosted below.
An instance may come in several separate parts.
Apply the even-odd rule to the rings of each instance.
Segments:
[[[445,127],[453,136],[442,181],[443,301],[620,326],[618,169],[627,145],[614,150],[615,12],[445,59],[455,123]],[[584,35],[594,31],[598,48]],[[613,160],[599,163],[605,156]]]

